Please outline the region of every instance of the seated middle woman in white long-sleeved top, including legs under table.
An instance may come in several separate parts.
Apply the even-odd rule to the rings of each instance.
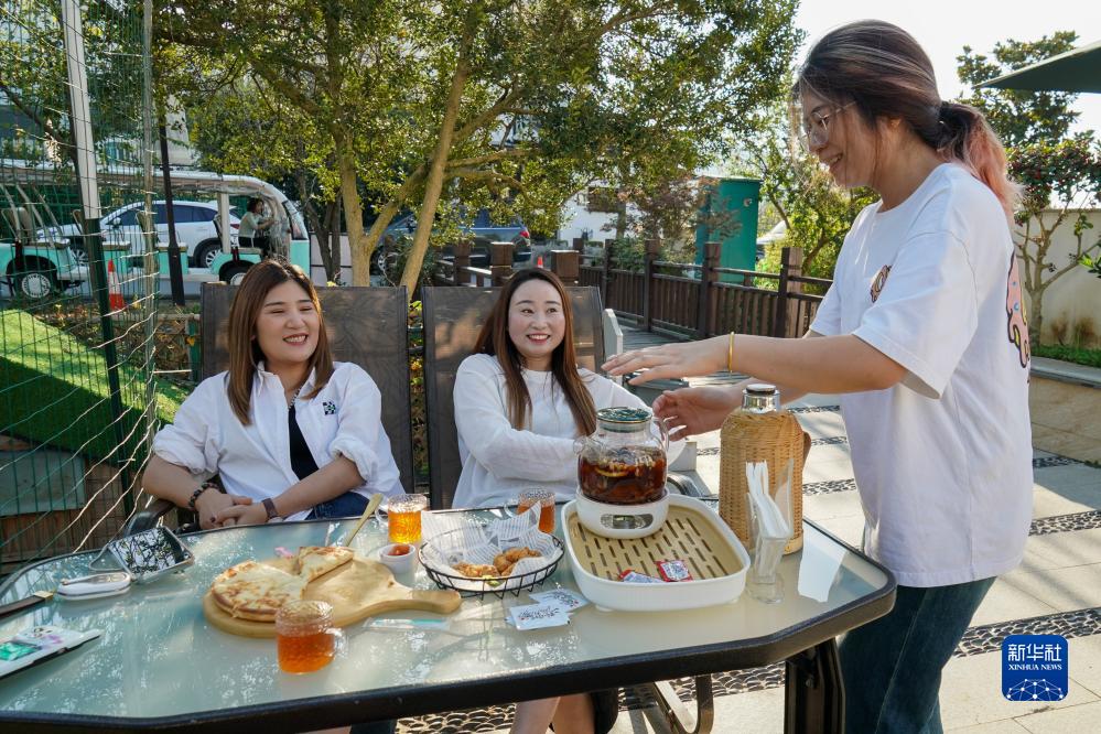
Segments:
[[[475,354],[455,377],[455,424],[463,472],[455,507],[505,505],[517,486],[539,483],[559,500],[574,496],[574,440],[596,430],[596,410],[646,407],[615,382],[578,366],[573,314],[562,282],[539,268],[501,289]],[[517,704],[512,732],[606,732],[615,691]]]

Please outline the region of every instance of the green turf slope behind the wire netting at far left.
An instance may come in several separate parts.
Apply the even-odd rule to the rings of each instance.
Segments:
[[[4,431],[91,457],[115,456],[119,446],[110,428],[114,417],[102,354],[24,311],[0,312],[0,327],[19,345],[0,355],[0,385],[9,386],[0,400]],[[122,385],[144,382],[139,370],[125,364],[119,367],[119,379]],[[10,386],[18,386],[18,392]],[[134,393],[143,391],[122,392],[120,420],[133,427],[145,410],[143,395]],[[156,417],[171,421],[186,397],[185,390],[158,381],[154,392]],[[58,421],[58,417],[65,420]]]

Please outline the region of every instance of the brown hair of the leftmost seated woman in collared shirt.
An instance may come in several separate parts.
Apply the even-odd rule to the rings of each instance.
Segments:
[[[298,266],[283,260],[263,260],[248,269],[241,280],[234,303],[229,306],[229,406],[242,425],[248,425],[250,404],[252,401],[252,380],[256,378],[256,367],[265,359],[260,342],[256,336],[256,321],[268,298],[268,293],[277,285],[292,281],[299,285],[317,312],[317,348],[310,355],[310,369],[314,370],[314,388],[303,397],[312,398],[325,387],[333,376],[333,353],[328,346],[328,334],[325,331],[325,316],[321,312],[321,301],[313,283]]]

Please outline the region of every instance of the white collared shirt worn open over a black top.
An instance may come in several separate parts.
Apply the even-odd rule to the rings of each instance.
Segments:
[[[370,376],[352,363],[335,363],[328,384],[312,398],[311,371],[294,403],[294,415],[321,468],[337,455],[355,463],[366,481],[354,492],[401,495],[401,477],[382,429],[382,399]],[[228,373],[199,382],[176,412],[175,422],[153,439],[153,452],[186,467],[197,479],[214,474],[226,492],[253,500],[274,498],[299,482],[291,467],[288,406],[283,384],[261,361],[252,381],[251,422],[242,425],[226,392]],[[285,519],[301,520],[310,510]]]

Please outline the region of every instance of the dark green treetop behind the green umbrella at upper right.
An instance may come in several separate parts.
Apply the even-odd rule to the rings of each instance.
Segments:
[[[1038,41],[995,43],[991,56],[963,46],[957,56],[960,82],[972,87],[1014,69],[1028,66],[1075,47],[1078,34],[1059,31]],[[1077,95],[1066,91],[1027,91],[1024,89],[973,89],[960,101],[983,111],[1002,142],[1010,148],[1044,143],[1067,137],[1078,112],[1070,108]]]

